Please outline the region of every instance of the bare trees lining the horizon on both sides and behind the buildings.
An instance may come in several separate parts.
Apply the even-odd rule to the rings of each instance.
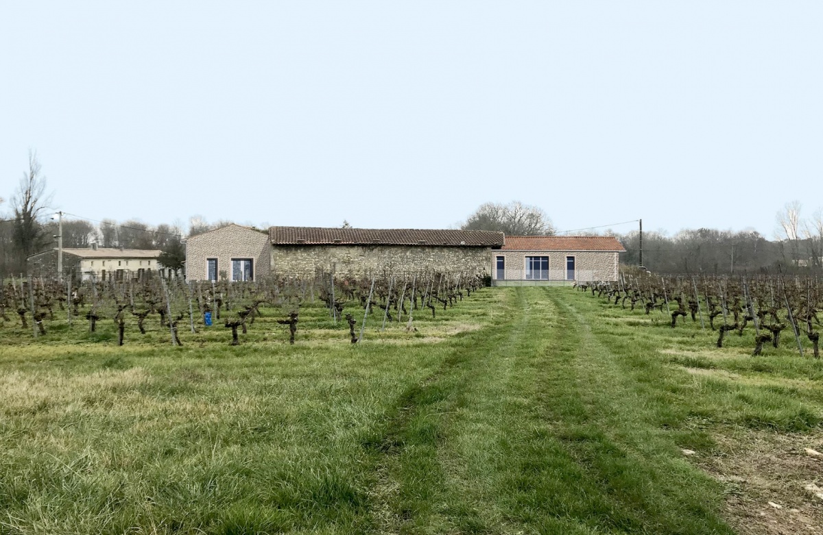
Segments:
[[[0,197],[0,279],[5,274],[26,272],[26,257],[57,247],[58,222],[49,219],[52,196],[35,153],[29,155],[29,168],[13,195]],[[684,229],[668,236],[661,232],[643,233],[643,264],[658,273],[736,274],[785,272],[823,273],[823,211],[811,219],[801,214],[794,201],[777,216],[778,239],[770,241],[752,230],[732,232],[714,228]],[[188,236],[221,228],[231,221],[209,224],[201,216],[189,219]],[[344,226],[348,223],[344,222]],[[508,204],[487,202],[460,225],[464,230],[495,230],[508,236],[552,235],[556,228],[544,210],[519,201]],[[615,236],[626,249],[621,254],[625,265],[640,264],[638,231]],[[103,219],[63,219],[63,247],[123,247],[159,249],[160,262],[181,270],[185,258],[183,229],[179,224],[152,226],[137,219],[118,222]]]

